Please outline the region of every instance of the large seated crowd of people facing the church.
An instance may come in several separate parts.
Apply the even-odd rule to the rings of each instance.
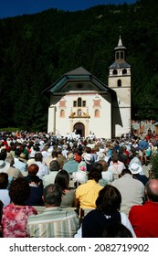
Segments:
[[[156,133],[0,133],[0,237],[158,237]],[[40,211],[39,211],[40,208]]]

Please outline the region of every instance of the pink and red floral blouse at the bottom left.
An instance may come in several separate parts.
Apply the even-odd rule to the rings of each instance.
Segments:
[[[31,206],[5,206],[2,216],[2,231],[4,238],[27,238],[27,217],[36,215],[37,210]]]

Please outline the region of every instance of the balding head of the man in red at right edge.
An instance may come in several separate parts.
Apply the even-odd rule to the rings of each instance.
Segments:
[[[145,185],[145,195],[149,201],[158,202],[158,179],[150,179]]]

